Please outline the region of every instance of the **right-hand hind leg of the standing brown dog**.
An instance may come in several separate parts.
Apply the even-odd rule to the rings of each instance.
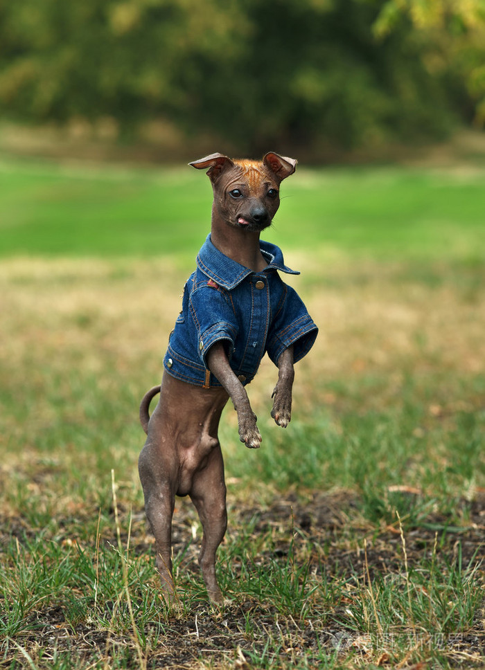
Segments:
[[[193,478],[191,499],[202,523],[199,565],[212,601],[222,603],[222,592],[215,577],[215,552],[227,528],[226,485],[220,446],[212,451],[209,462]]]

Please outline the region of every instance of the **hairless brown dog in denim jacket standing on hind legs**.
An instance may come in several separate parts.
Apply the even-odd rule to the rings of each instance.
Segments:
[[[199,564],[207,593],[221,603],[215,552],[227,528],[218,440],[222,409],[231,398],[241,442],[257,449],[261,434],[245,386],[267,352],[278,368],[271,415],[279,426],[288,426],[294,363],[312,347],[317,326],[279,276],[299,273],[285,266],[277,246],[260,239],[279,208],[281,181],[293,174],[297,161],[273,152],[262,161],[232,160],[216,153],[189,165],[207,170],[212,183],[211,233],[184,287],[161,385],[141,401],[147,439],[139,456],[139,476],[164,598],[169,603],[177,598],[171,526],[175,496],[188,495],[202,523]],[[150,417],[150,401],[157,394]]]

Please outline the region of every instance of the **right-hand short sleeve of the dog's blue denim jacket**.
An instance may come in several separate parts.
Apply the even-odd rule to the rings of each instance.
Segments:
[[[285,293],[267,336],[267,354],[276,365],[279,356],[293,345],[294,362],[306,356],[317,338],[318,328],[297,291],[284,284]]]

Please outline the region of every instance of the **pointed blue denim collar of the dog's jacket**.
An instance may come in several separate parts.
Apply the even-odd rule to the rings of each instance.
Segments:
[[[267,268],[281,270],[291,275],[299,275],[297,270],[290,270],[283,262],[283,253],[281,249],[270,242],[260,241],[261,253],[267,259]],[[206,241],[197,254],[197,267],[210,279],[219,284],[219,286],[229,291],[235,288],[248,275],[254,274],[254,271],[236,263],[228,256],[224,255],[211,242],[211,234],[207,235]]]

